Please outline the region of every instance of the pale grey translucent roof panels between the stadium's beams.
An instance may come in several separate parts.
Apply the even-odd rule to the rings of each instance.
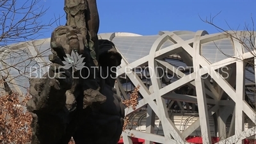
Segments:
[[[158,49],[170,48],[173,45],[180,45],[183,49],[186,49],[186,45],[193,47],[193,42],[196,40],[196,32],[193,31],[160,31],[158,35],[138,35],[134,33],[100,33],[100,39],[111,40],[118,51],[123,56],[122,63],[133,63],[136,60],[140,60],[145,56],[148,56],[152,45],[159,40],[159,37],[168,33],[169,38],[163,41],[163,45]],[[233,31],[228,31],[233,33]],[[238,33],[240,38],[248,38],[245,40],[246,45],[250,45],[250,37],[243,31]],[[40,40],[34,40],[33,42],[24,42],[19,44],[9,45],[8,47],[0,48],[0,67],[1,75],[7,76],[11,83],[11,86],[18,92],[26,92],[25,88],[28,87],[28,77],[31,75],[31,71],[37,69],[37,74],[44,74],[47,72],[49,65],[48,56],[51,54],[50,39],[44,38]],[[202,31],[200,37],[200,54],[209,63],[216,63],[221,60],[225,60],[228,57],[236,57],[236,41],[232,42],[227,35],[223,33],[214,33],[209,35],[206,31]],[[169,51],[166,49],[166,51]],[[244,53],[248,52],[248,49],[243,49]],[[157,52],[156,52],[157,54]],[[158,53],[158,55],[160,55]],[[180,59],[179,55],[166,57],[172,57],[168,59],[168,62],[175,67],[188,67],[188,63]],[[175,58],[176,57],[176,58]],[[33,59],[29,59],[33,58]],[[32,72],[35,75],[35,72]],[[38,75],[39,76],[39,75]],[[252,67],[246,70],[246,84],[255,83],[255,76],[253,74]],[[17,84],[17,85],[16,85]]]

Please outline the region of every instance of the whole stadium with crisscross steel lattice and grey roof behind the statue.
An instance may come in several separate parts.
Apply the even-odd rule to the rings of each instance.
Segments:
[[[228,33],[248,38],[246,31]],[[207,31],[160,31],[150,36],[102,33],[99,38],[111,40],[122,54],[115,85],[122,99],[140,85],[138,106],[125,109],[131,129],[122,133],[124,143],[132,143],[131,137],[145,143],[188,143],[192,136],[202,136],[204,143],[215,143],[212,138],[217,137],[218,143],[255,139],[255,67],[243,61],[255,61],[255,51],[248,52],[225,33],[209,35]],[[255,45],[255,38],[248,39],[246,45]],[[11,45],[0,53],[2,75],[9,70],[15,77],[12,83],[18,84],[12,88],[26,92],[22,86],[28,87],[24,81],[28,84],[31,69],[24,68],[24,76],[16,77],[19,72],[5,69],[6,63],[15,65],[40,54],[32,63],[24,61],[15,67],[26,65],[44,74],[49,45],[47,38]]]

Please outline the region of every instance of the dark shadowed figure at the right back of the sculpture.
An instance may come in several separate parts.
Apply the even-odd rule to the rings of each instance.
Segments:
[[[106,95],[107,99],[98,106],[88,108],[88,118],[84,118],[84,122],[74,134],[76,143],[114,144],[120,139],[124,125],[124,106],[113,86],[116,67],[120,65],[121,60],[122,57],[116,52],[112,42],[99,40],[100,75],[104,80],[101,93]]]

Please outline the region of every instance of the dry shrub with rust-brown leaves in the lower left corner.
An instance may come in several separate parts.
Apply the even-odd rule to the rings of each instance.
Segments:
[[[22,100],[19,100],[19,99]],[[29,95],[0,94],[0,143],[31,141],[31,114],[26,111]]]

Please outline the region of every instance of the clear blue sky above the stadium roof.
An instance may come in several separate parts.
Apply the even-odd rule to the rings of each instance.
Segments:
[[[64,0],[42,0],[40,4],[49,7],[42,18],[45,22],[55,15],[64,15]],[[244,23],[252,28],[251,17],[256,25],[256,0],[222,0],[222,1],[174,1],[174,0],[98,0],[100,29],[99,33],[129,32],[140,35],[156,35],[159,31],[206,30],[217,33],[218,30],[200,20],[216,15],[214,23],[223,29],[243,30]],[[199,17],[200,15],[200,17]],[[230,28],[228,28],[227,23]],[[65,16],[60,20],[65,25]],[[56,28],[54,25],[52,29]],[[51,31],[40,38],[51,36]]]

